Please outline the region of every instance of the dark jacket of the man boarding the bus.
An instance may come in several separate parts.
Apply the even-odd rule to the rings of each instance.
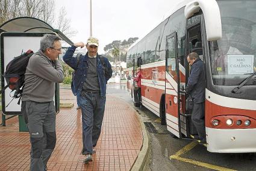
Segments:
[[[195,104],[205,101],[205,77],[204,62],[198,58],[190,69],[189,81],[187,81],[186,93],[192,96]]]

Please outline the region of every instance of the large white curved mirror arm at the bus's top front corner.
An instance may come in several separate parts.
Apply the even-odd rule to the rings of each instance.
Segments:
[[[192,17],[200,9],[204,13],[207,40],[213,41],[221,39],[222,25],[219,5],[217,4],[216,0],[195,0],[189,2],[184,10],[186,19]]]

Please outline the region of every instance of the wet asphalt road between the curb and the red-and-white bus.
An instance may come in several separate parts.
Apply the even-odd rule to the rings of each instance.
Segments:
[[[107,93],[133,105],[125,84],[108,84]],[[151,111],[145,107],[134,108],[139,112],[143,122],[152,123],[156,130],[155,133],[148,132],[152,154],[148,170],[256,170],[256,154],[216,154],[208,152],[201,145],[196,145],[181,154],[182,160],[170,160],[171,155],[190,145],[192,140],[173,137]]]

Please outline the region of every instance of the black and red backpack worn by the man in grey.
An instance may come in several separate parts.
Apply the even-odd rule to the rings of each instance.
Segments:
[[[3,75],[5,81],[7,82],[7,85],[5,85],[1,93],[3,93],[4,90],[7,89],[7,87],[9,87],[9,89],[11,89],[11,92],[15,91],[14,95],[11,97],[13,99],[19,98],[18,104],[20,104],[20,98],[22,96],[23,84],[25,82],[25,72],[28,65],[28,61],[30,60],[30,57],[33,54],[33,51],[28,50],[27,52],[19,55],[18,57],[14,57],[14,59],[7,64]]]

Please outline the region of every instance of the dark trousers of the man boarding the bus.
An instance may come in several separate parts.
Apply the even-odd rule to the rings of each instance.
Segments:
[[[194,104],[192,111],[192,122],[198,131],[199,138],[205,140],[204,102]]]

